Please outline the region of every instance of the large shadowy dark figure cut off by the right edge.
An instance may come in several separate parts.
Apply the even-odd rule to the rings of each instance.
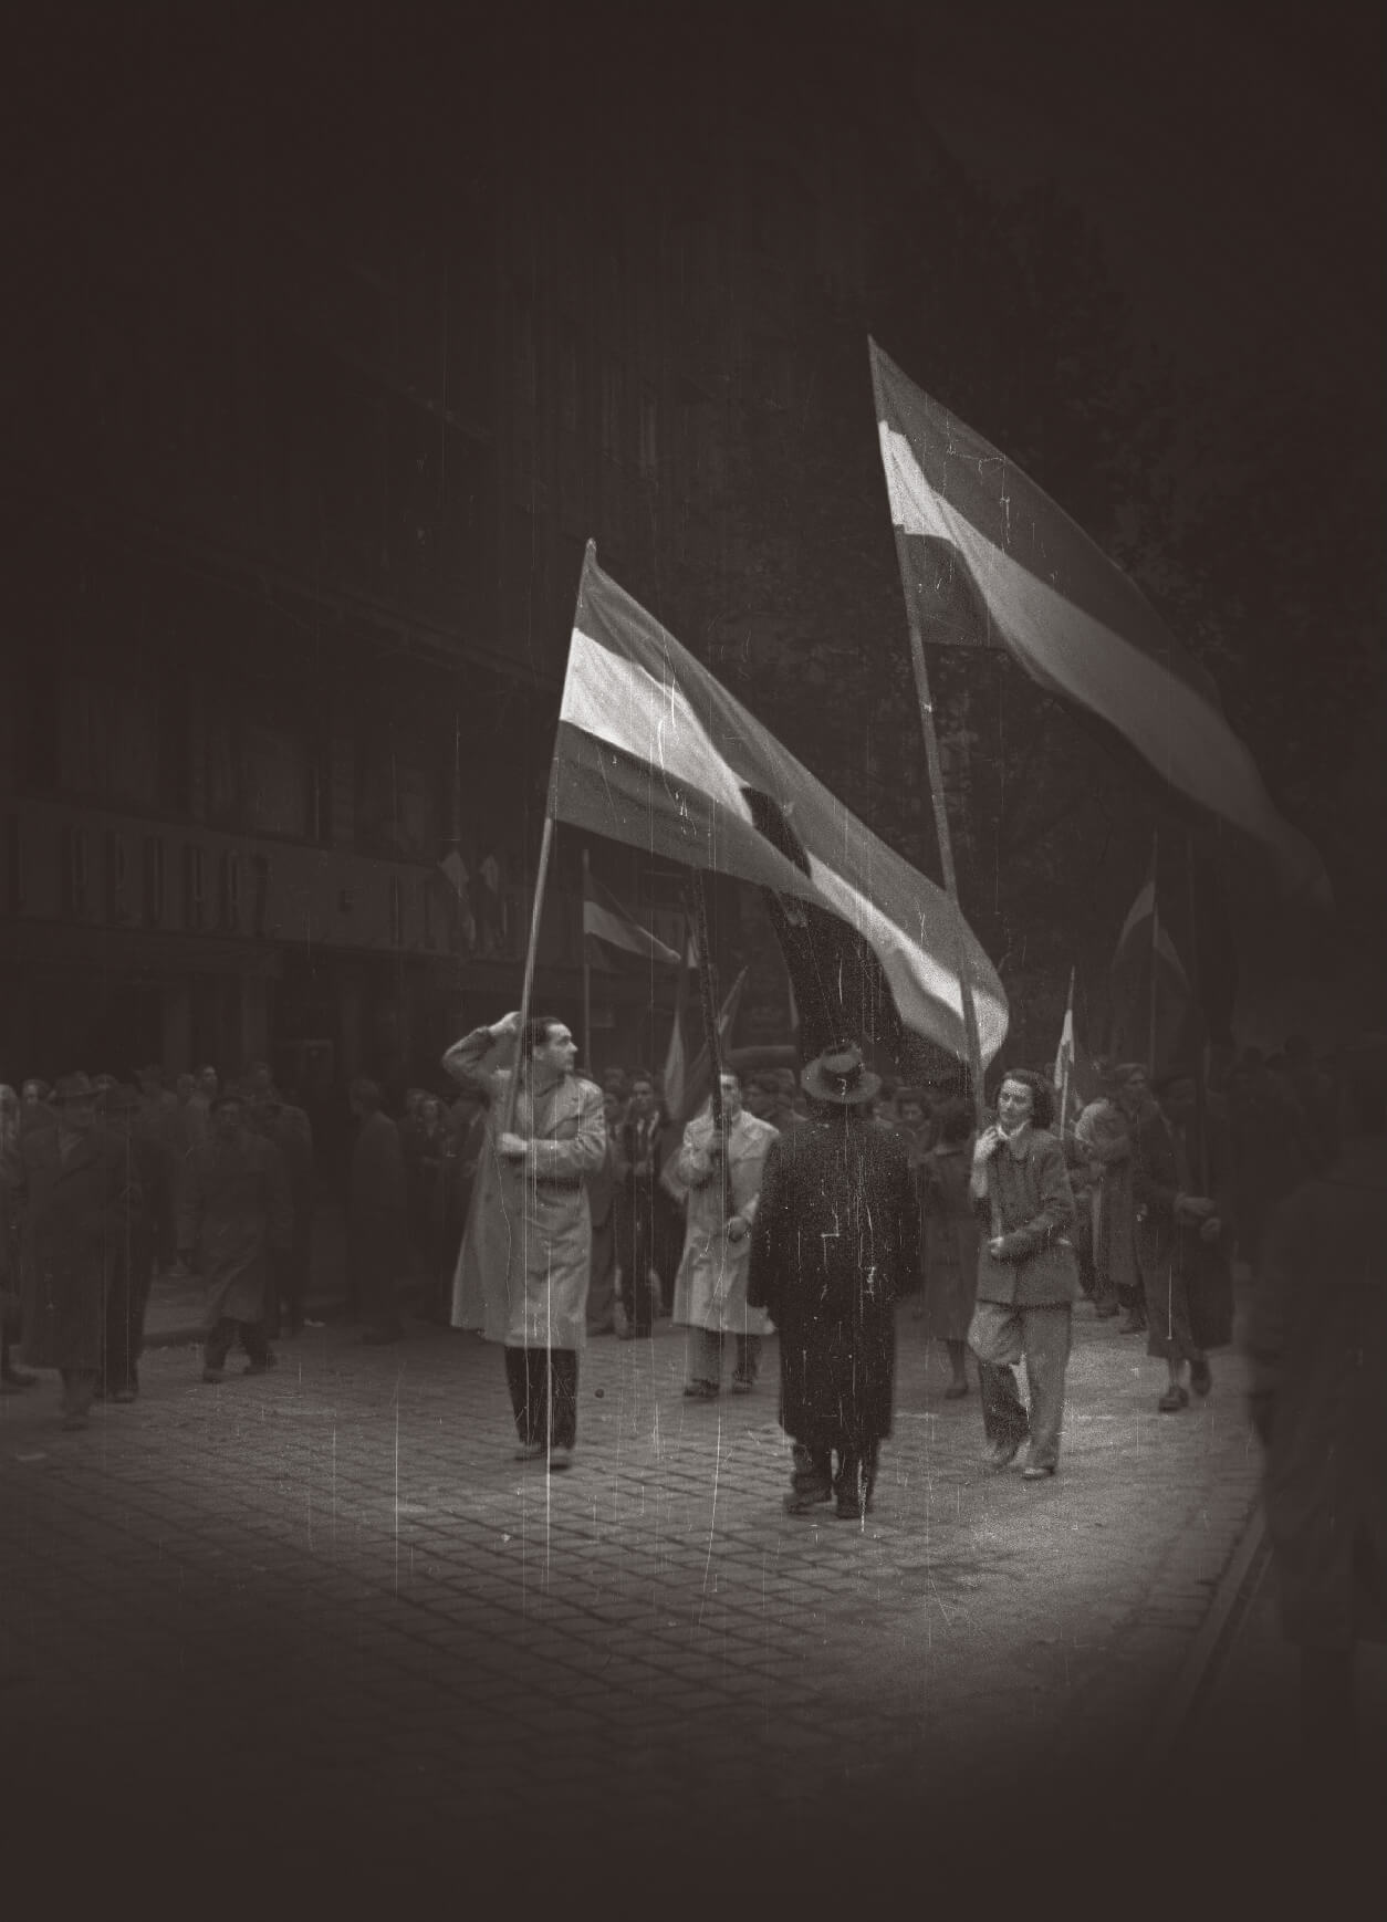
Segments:
[[[1354,1770],[1354,1645],[1387,1641],[1387,1036],[1343,1065],[1339,1161],[1274,1211],[1249,1328],[1302,1741],[1335,1784]]]

